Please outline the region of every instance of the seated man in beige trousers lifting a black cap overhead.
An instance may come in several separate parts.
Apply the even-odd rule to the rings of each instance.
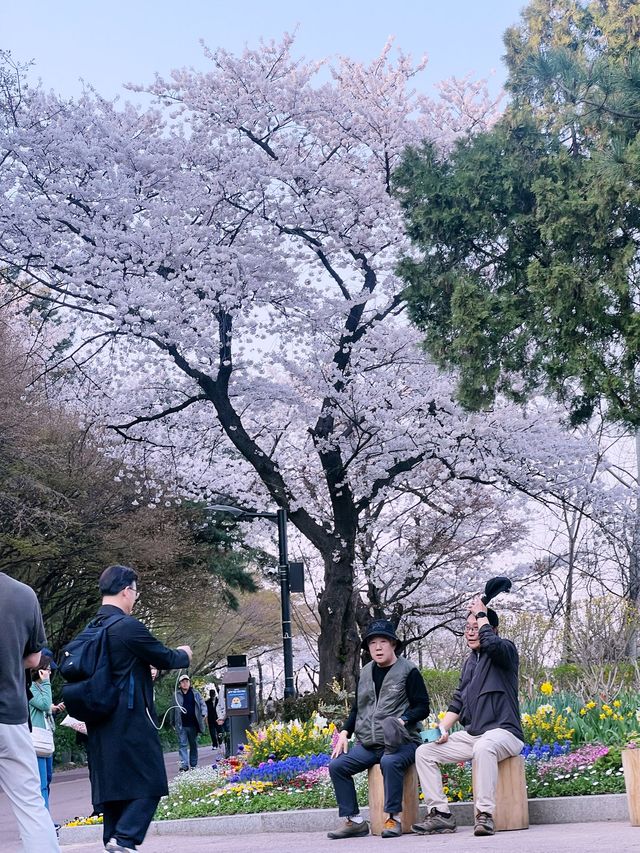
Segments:
[[[498,636],[498,614],[474,598],[464,629],[471,654],[460,683],[440,723],[437,741],[418,747],[416,769],[428,809],[421,835],[455,832],[456,821],[442,790],[440,765],[474,759],[476,817],[474,835],[493,835],[498,762],[522,751],[523,734],[518,704],[518,651],[511,640]],[[460,722],[464,731],[449,730]]]

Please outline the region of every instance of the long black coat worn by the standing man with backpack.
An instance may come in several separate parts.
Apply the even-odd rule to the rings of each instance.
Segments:
[[[99,616],[120,614],[103,605]],[[168,649],[133,616],[107,629],[111,669],[116,683],[126,682],[118,707],[103,723],[87,725],[89,773],[94,803],[162,797],[167,774],[153,706],[150,666],[180,669],[189,665],[186,652]],[[133,707],[129,708],[128,674],[133,674]]]

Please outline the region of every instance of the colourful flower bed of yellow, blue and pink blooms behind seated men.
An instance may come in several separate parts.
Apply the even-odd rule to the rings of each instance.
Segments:
[[[551,695],[550,683],[543,687],[547,701],[523,714],[530,738],[523,749],[529,797],[624,792],[615,744],[633,741],[631,729],[640,721],[640,710],[621,700],[570,705],[567,697]],[[594,742],[581,743],[591,733],[597,735]],[[327,765],[335,738],[335,726],[318,715],[307,723],[271,723],[250,733],[244,754],[172,780],[156,820],[334,808]],[[358,774],[355,783],[358,802],[366,805],[367,774]],[[450,802],[470,800],[470,762],[445,765],[443,784]],[[77,818],[68,825],[81,823]]]

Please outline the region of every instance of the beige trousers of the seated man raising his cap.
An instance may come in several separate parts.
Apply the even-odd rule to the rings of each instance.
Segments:
[[[424,802],[431,811],[448,812],[449,803],[442,790],[440,765],[475,759],[476,811],[493,814],[496,806],[498,762],[519,755],[524,743],[506,729],[490,729],[483,735],[454,732],[446,743],[425,743],[416,750],[416,768]]]

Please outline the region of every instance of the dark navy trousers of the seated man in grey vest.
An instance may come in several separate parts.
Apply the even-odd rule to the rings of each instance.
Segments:
[[[414,763],[417,748],[417,743],[403,743],[397,752],[385,752],[382,747],[367,749],[361,743],[356,743],[349,752],[329,762],[329,775],[336,792],[340,817],[359,814],[353,777],[374,764],[380,765],[384,779],[384,810],[387,814],[399,814],[402,811],[404,771]]]

